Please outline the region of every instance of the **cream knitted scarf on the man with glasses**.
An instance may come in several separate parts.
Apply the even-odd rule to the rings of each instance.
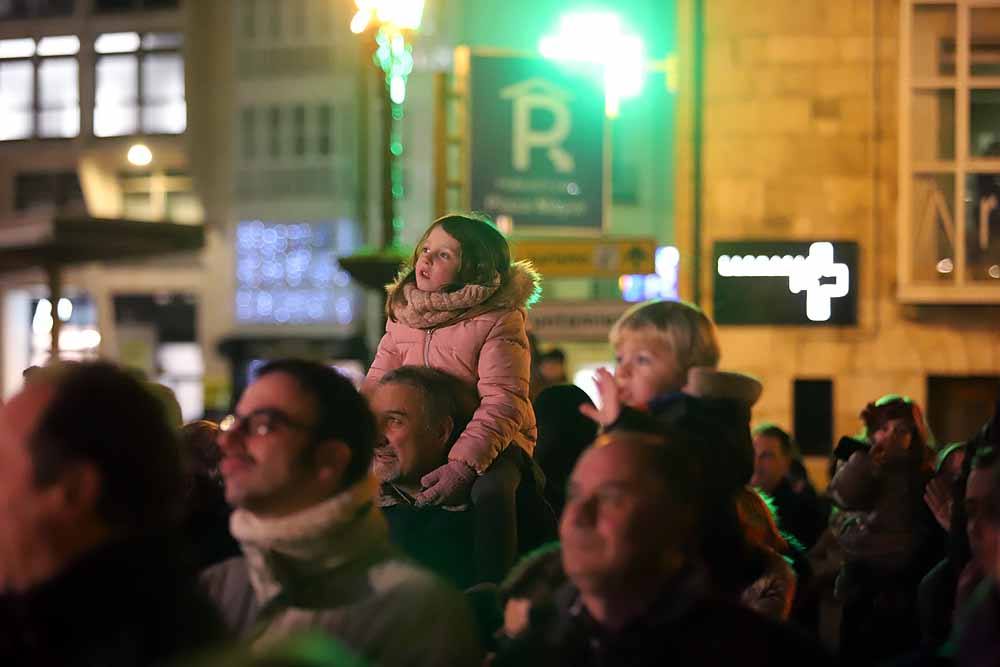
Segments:
[[[331,572],[388,542],[388,528],[374,506],[371,476],[318,505],[280,518],[238,509],[229,528],[246,556],[250,582],[261,605],[300,575]]]

